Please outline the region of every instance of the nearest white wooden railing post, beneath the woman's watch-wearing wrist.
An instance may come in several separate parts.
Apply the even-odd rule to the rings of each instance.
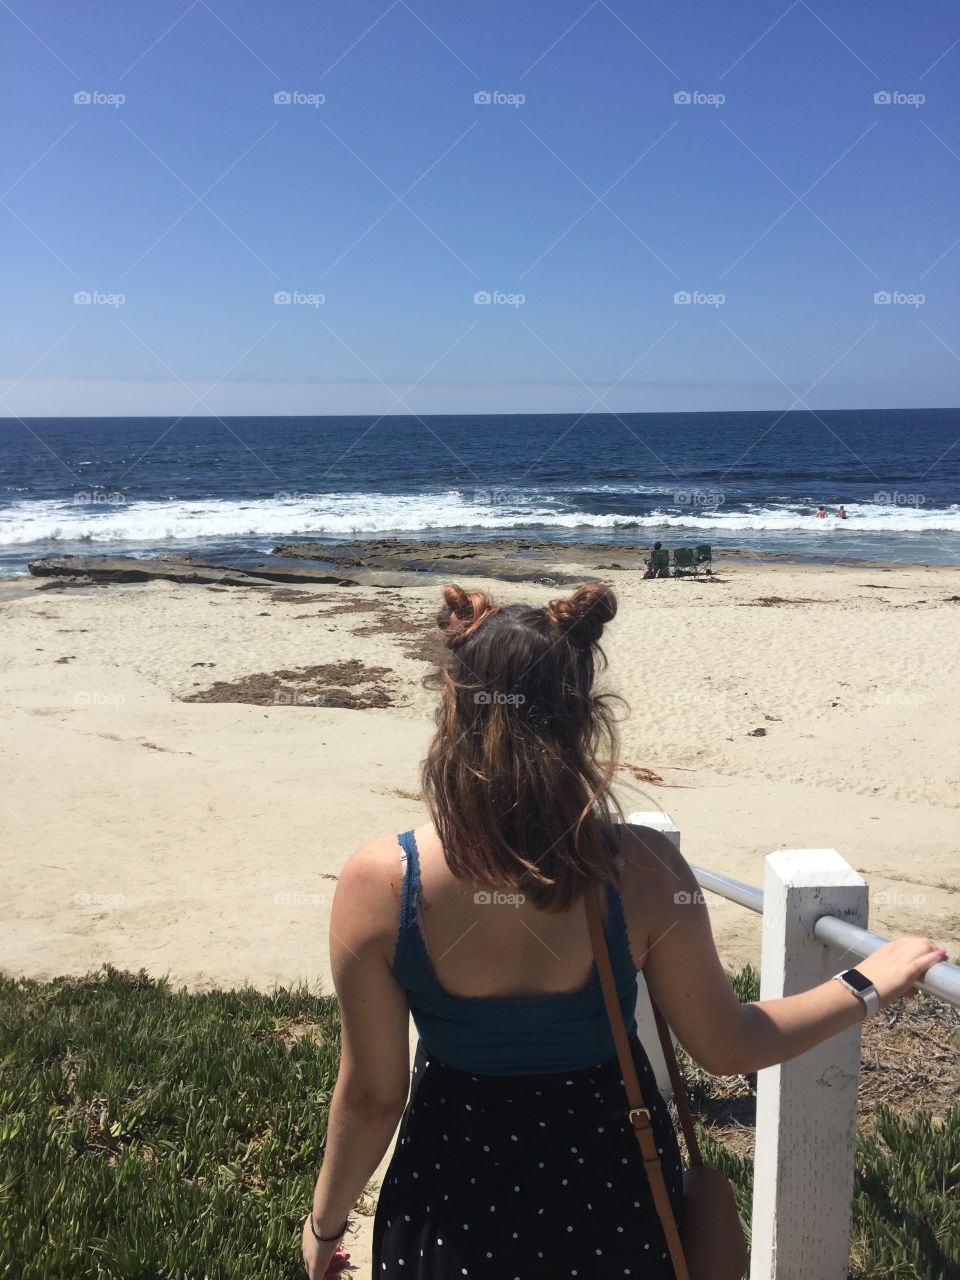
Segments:
[[[867,884],[833,849],[771,854],[760,998],[850,968],[813,927],[824,914],[865,927],[867,902]],[[859,1024],[758,1073],[750,1280],[846,1280],[859,1074]]]

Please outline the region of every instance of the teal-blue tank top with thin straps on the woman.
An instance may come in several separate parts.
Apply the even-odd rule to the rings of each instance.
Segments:
[[[539,1075],[598,1066],[616,1047],[593,965],[581,991],[545,996],[451,996],[440,986],[419,918],[420,859],[413,832],[397,837],[407,855],[393,974],[407,992],[420,1039],[431,1057],[479,1075]],[[636,965],[623,904],[608,891],[604,924],[627,1032],[636,1025]]]

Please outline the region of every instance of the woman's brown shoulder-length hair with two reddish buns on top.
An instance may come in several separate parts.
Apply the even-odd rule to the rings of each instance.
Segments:
[[[447,864],[566,910],[588,883],[616,879],[617,731],[611,696],[593,686],[617,599],[600,582],[545,608],[460,586],[443,599],[451,658],[434,677],[442,699],[422,782]]]

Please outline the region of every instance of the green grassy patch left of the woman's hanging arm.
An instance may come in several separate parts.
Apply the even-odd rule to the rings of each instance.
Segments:
[[[302,1277],[335,1002],[0,982],[0,1276]]]

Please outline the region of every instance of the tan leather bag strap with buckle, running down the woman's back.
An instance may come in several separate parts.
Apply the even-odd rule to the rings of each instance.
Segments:
[[[611,954],[607,948],[607,938],[603,934],[603,886],[590,886],[584,899],[586,902],[586,924],[590,929],[590,945],[594,951],[596,973],[600,978],[600,989],[603,991],[603,1002],[607,1006],[607,1018],[613,1033],[613,1043],[617,1047],[617,1060],[627,1094],[627,1121],[640,1146],[644,1169],[650,1183],[650,1194],[653,1196],[657,1216],[660,1220],[671,1262],[673,1263],[673,1274],[676,1280],[690,1280],[690,1272],[684,1257],[684,1247],[680,1243],[680,1233],[677,1231],[677,1221],[673,1217],[673,1207],[667,1192],[667,1183],[663,1178],[663,1165],[657,1153],[657,1139],[650,1128],[650,1108],[644,1102],[644,1093],[636,1074],[634,1055],[630,1051],[627,1028],[620,1007],[617,983],[613,978],[613,966],[611,965]],[[667,1033],[667,1038],[669,1039],[669,1033]]]

